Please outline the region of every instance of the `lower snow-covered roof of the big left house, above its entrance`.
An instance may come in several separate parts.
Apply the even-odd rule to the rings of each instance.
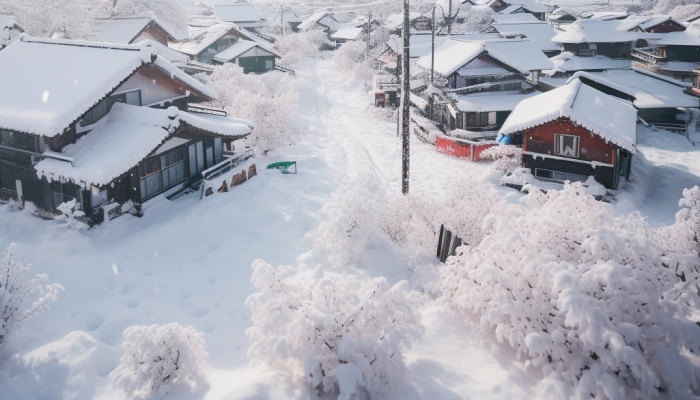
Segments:
[[[176,107],[164,110],[117,103],[87,135],[63,149],[61,155],[72,158],[72,163],[45,158],[34,169],[51,180],[63,177],[84,187],[103,186],[138,165],[180,126],[234,138],[251,132],[249,126],[236,120],[208,117]]]

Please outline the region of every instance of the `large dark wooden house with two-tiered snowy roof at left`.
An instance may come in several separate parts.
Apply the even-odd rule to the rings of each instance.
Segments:
[[[95,221],[140,212],[252,129],[196,107],[216,95],[151,46],[23,36],[0,65],[0,199],[48,213],[71,199]]]

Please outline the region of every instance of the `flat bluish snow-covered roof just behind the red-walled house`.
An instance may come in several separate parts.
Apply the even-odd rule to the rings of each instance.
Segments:
[[[684,93],[686,86],[680,81],[657,79],[632,71],[577,72],[569,82],[581,79],[597,82],[629,96],[638,109],[698,107],[697,97]]]

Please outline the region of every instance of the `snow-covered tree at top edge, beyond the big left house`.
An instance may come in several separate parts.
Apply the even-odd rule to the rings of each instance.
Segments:
[[[101,0],[104,17],[154,16],[171,28],[187,29],[187,12],[177,0]]]

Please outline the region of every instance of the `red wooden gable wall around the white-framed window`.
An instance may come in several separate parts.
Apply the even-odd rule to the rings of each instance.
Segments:
[[[567,118],[561,118],[524,131],[523,150],[555,155],[554,135],[557,133],[580,137],[577,160],[615,164],[617,146],[606,142],[605,139],[591,133],[586,128],[575,125]],[[539,146],[539,143],[548,145],[549,151],[543,151],[547,146]]]

